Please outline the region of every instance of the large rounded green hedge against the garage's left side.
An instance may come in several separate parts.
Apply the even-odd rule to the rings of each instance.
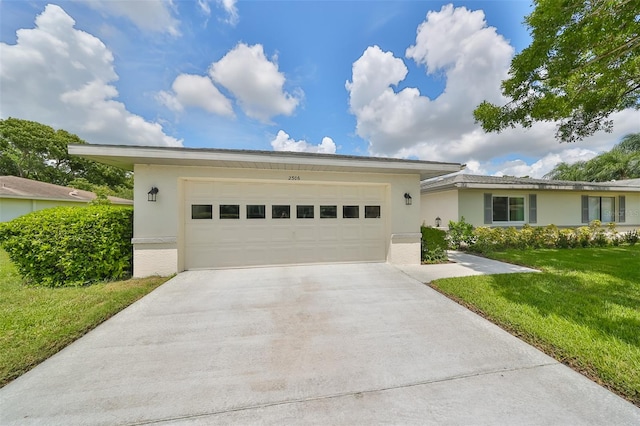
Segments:
[[[0,245],[30,284],[79,286],[131,274],[133,209],[56,207],[0,226]]]

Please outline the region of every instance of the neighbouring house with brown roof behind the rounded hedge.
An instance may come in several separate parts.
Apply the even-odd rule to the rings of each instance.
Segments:
[[[17,176],[0,176],[0,222],[51,207],[86,205],[95,198],[96,194],[89,191]],[[113,204],[133,204],[123,198],[108,198]]]

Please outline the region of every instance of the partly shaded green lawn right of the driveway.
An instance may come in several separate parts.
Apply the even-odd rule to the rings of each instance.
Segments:
[[[488,257],[543,272],[431,286],[640,406],[640,246]]]

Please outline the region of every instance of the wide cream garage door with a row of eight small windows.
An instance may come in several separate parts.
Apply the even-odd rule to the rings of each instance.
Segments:
[[[185,182],[185,269],[384,261],[384,185]]]

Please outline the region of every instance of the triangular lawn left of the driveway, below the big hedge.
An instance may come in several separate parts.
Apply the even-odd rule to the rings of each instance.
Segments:
[[[130,279],[75,288],[25,286],[0,249],[0,387],[166,280]]]

